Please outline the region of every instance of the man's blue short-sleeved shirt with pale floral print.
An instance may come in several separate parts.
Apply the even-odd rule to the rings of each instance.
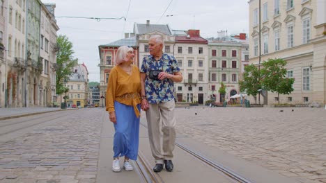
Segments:
[[[162,70],[167,73],[180,71],[176,58],[171,55],[163,54],[160,60],[155,60],[152,55],[143,58],[140,71],[146,73],[145,93],[148,103],[166,103],[174,99],[173,81],[165,78],[164,80],[151,80],[148,78],[150,70]]]

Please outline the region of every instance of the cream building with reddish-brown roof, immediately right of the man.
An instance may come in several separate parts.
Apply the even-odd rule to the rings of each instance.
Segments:
[[[175,40],[173,53],[183,73],[183,81],[174,86],[176,100],[203,104],[209,99],[208,41],[201,37],[200,30],[188,30],[187,35],[178,35]]]

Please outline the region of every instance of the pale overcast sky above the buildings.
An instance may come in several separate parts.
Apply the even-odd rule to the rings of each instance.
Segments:
[[[90,82],[100,82],[98,46],[123,39],[124,33],[133,32],[134,23],[150,20],[150,24],[169,24],[173,30],[199,29],[203,38],[217,37],[221,30],[228,35],[249,33],[248,0],[41,1],[56,4],[57,35],[66,35],[72,42],[73,56],[86,65]]]

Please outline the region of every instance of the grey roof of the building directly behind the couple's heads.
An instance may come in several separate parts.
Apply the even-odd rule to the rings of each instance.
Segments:
[[[172,35],[172,30],[169,28],[168,24],[149,24],[149,21],[148,24],[134,23],[134,33],[136,35],[143,35],[154,31],[159,31],[166,35]]]

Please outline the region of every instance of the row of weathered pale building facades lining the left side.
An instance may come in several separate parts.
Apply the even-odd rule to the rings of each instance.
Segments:
[[[38,0],[1,4],[0,106],[50,106],[55,99],[53,63],[59,30],[55,4],[46,6]]]

